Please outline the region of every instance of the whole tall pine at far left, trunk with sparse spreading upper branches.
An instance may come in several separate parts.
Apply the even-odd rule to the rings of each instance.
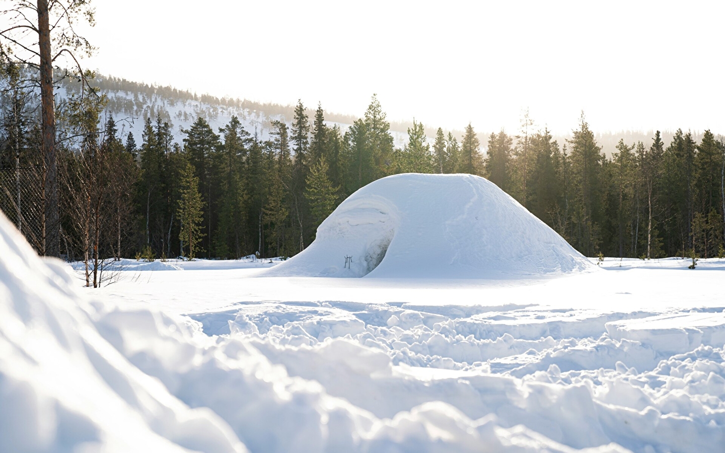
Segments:
[[[65,62],[75,67],[75,77],[87,86],[86,74],[78,61],[90,55],[94,47],[75,32],[78,20],[95,25],[90,0],[8,1],[0,11],[7,24],[0,30],[0,57],[4,62],[27,65],[38,71],[28,83],[40,88],[43,149],[43,254],[60,254],[60,217],[56,149],[55,100],[53,69]],[[65,75],[68,75],[65,70]],[[85,90],[81,90],[84,92]]]

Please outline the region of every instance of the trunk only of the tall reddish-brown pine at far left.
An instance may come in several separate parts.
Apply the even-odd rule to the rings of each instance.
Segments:
[[[55,156],[55,104],[48,0],[38,0],[38,47],[40,50],[41,112],[43,117],[43,162],[45,164],[43,252],[51,257],[59,257],[58,167]]]

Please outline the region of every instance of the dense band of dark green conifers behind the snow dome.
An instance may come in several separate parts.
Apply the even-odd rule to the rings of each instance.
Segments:
[[[13,65],[2,73],[0,207],[44,254],[40,98],[22,82],[28,74]],[[132,101],[130,109],[109,105],[120,98],[99,86],[66,86],[57,101],[59,252],[91,263],[88,283],[109,258],[292,256],[346,196],[411,172],[484,176],[587,256],[724,253],[725,144],[710,130],[699,138],[676,130],[668,143],[659,131],[647,141],[621,138],[607,156],[584,112],[562,141],[526,114],[520,130],[488,135],[472,124],[454,133],[414,120],[395,146],[373,95],[359,118],[331,120],[302,101],[276,106],[265,139],[234,115],[215,130],[199,113],[177,141],[173,118],[144,109],[134,118],[143,125],[137,141],[121,133]],[[170,101],[192,96],[146,88],[166,90]],[[113,111],[130,115],[118,121]]]

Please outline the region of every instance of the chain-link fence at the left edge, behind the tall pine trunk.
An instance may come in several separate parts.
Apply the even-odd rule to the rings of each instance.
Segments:
[[[0,168],[0,210],[36,251],[43,244],[43,169]]]

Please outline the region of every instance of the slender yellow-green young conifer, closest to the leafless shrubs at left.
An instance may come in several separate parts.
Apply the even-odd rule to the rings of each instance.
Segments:
[[[194,166],[187,163],[181,173],[181,199],[176,215],[181,222],[179,239],[188,247],[188,259],[196,257],[196,252],[202,252],[199,244],[202,241],[202,196],[199,194],[199,178],[195,175]]]

